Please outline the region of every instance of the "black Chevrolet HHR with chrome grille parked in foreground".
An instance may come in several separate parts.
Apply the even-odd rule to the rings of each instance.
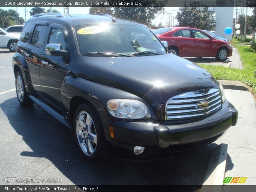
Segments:
[[[236,125],[237,110],[207,71],[166,46],[146,26],[110,15],[37,14],[12,60],[18,101],[73,129],[92,161],[212,143]]]

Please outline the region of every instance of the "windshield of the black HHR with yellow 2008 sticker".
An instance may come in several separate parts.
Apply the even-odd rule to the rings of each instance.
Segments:
[[[97,56],[96,53],[106,52],[123,55],[145,52],[145,54],[138,54],[143,56],[150,56],[148,52],[151,52],[151,55],[166,53],[161,42],[144,26],[102,23],[76,26],[75,30],[79,52],[88,56]]]

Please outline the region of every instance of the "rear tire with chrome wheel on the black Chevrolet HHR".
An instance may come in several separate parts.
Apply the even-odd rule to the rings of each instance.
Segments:
[[[15,75],[15,87],[18,101],[22,106],[31,106],[34,101],[28,97],[28,93],[24,85],[23,76],[20,71],[17,71]]]

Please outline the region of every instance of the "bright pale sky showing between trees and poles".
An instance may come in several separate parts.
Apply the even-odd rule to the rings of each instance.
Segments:
[[[16,11],[16,7],[0,7],[1,9],[4,10],[9,10],[9,9],[14,9]],[[26,18],[27,20],[31,17],[29,14],[29,11],[31,10],[32,7],[27,7],[26,8]],[[50,7],[43,7],[45,10],[50,9]],[[63,13],[63,7],[52,7],[52,10],[55,9],[61,13]],[[90,7],[69,7],[69,13],[76,13],[76,14],[88,14],[89,13],[89,9]],[[156,17],[155,20],[152,21],[153,24],[156,23],[156,25],[158,25],[158,23],[162,22],[164,26],[168,26],[169,23],[169,14],[167,13],[171,13],[170,14],[170,18],[172,18],[174,16],[177,15],[177,12],[179,11],[179,7],[165,7],[165,13],[164,14],[160,14]],[[20,14],[20,17],[23,17],[25,19],[25,7],[18,7],[18,13]],[[245,8],[244,8],[244,14],[245,14]],[[252,15],[252,9],[248,8],[247,10],[247,15]],[[234,14],[233,14],[233,18],[236,18],[236,11],[235,11],[235,7],[234,7]],[[173,19],[174,21],[174,25],[177,24],[177,20]],[[173,23],[173,22],[172,22]]]

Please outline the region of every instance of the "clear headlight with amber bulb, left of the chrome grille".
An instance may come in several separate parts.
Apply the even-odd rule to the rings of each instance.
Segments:
[[[111,99],[107,105],[109,113],[114,117],[126,119],[151,117],[148,107],[138,100]]]

